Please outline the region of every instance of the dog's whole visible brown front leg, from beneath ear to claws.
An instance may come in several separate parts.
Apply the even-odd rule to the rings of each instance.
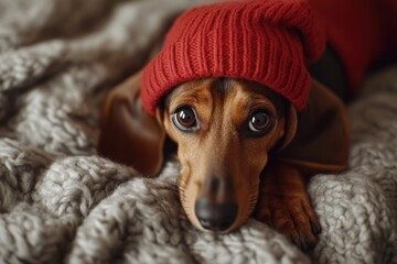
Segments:
[[[254,217],[286,234],[304,251],[315,245],[316,234],[321,231],[304,176],[277,162],[262,172]]]

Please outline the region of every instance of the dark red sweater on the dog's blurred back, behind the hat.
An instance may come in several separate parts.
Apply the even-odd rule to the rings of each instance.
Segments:
[[[355,95],[374,61],[397,51],[397,1],[309,0]]]

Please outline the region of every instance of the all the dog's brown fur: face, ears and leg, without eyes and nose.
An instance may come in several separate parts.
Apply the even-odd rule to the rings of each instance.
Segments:
[[[192,80],[165,97],[155,122],[141,109],[137,76],[107,96],[100,154],[157,175],[169,136],[178,144],[182,206],[196,228],[202,229],[194,210],[197,199],[234,201],[237,217],[224,232],[254,216],[302,249],[315,244],[320,224],[307,194],[307,176],[347,167],[346,112],[332,92],[313,80],[308,108],[297,114],[281,97],[255,81]],[[200,122],[200,129],[190,133],[172,122],[175,109],[186,105],[195,109]],[[267,109],[275,124],[266,135],[249,136],[247,119],[257,108]]]

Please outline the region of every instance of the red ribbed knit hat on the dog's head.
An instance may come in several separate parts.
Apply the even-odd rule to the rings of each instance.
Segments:
[[[307,64],[324,51],[325,33],[304,0],[245,0],[194,8],[168,33],[162,51],[142,75],[141,99],[154,114],[176,85],[206,77],[255,80],[305,106]]]

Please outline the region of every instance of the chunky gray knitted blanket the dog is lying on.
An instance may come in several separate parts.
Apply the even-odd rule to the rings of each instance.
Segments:
[[[350,106],[351,169],[309,185],[309,254],[253,219],[196,231],[175,162],[149,179],[97,155],[105,92],[189,4],[0,0],[0,263],[397,263],[397,67]]]

